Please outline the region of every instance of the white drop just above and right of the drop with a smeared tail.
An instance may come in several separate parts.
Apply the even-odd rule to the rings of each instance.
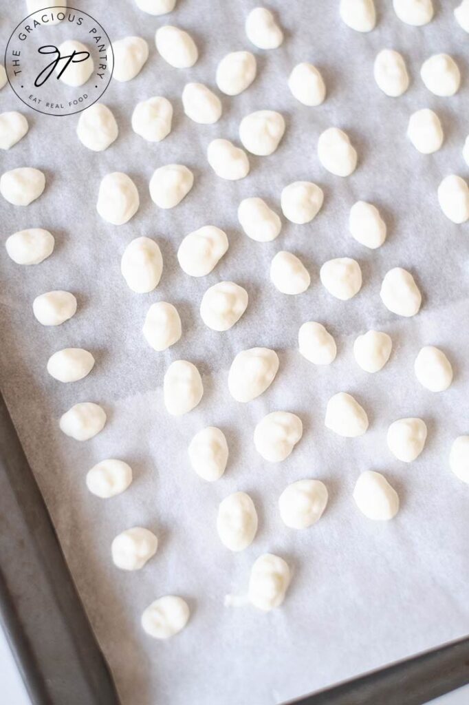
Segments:
[[[280,516],[290,529],[308,529],[320,520],[327,505],[327,488],[320,480],[297,480],[280,495]]]

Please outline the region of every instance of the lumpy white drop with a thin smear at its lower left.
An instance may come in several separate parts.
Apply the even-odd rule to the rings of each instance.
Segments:
[[[285,599],[291,575],[288,564],[273,553],[263,553],[251,568],[249,601],[263,612],[280,607]]]

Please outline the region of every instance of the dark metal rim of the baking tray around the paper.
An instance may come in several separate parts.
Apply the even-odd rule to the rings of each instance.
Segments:
[[[119,704],[1,394],[0,620],[33,705]],[[469,637],[295,703],[423,705],[468,683]]]

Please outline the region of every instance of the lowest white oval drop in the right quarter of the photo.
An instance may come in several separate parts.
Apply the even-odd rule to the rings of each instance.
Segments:
[[[387,521],[399,511],[399,496],[380,472],[365,470],[356,481],[354,500],[368,519]]]

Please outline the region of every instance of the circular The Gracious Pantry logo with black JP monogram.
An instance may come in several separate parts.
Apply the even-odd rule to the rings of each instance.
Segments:
[[[22,20],[8,39],[5,70],[13,91],[30,108],[73,115],[104,93],[113,58],[111,40],[91,15],[44,7]]]

